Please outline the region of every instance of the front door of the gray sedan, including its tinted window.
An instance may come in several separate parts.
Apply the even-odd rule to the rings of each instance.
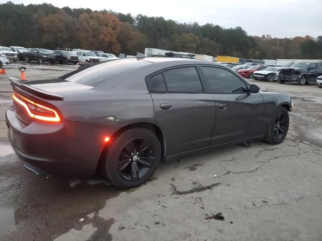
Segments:
[[[250,93],[249,84],[233,71],[210,65],[200,68],[216,101],[216,122],[210,145],[264,135],[262,95]]]

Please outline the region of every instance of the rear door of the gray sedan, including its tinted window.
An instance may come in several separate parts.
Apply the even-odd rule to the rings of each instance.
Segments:
[[[166,155],[209,145],[215,100],[205,92],[195,65],[177,66],[146,78],[156,124],[166,138]]]

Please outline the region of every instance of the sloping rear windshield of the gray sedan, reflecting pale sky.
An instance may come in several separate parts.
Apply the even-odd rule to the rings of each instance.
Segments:
[[[66,74],[61,78],[75,82],[78,84],[85,84],[89,86],[97,86],[109,79],[122,74],[124,72],[132,71],[151,64],[150,62],[137,59],[118,59],[100,64],[95,64],[89,68],[76,70],[70,74]]]

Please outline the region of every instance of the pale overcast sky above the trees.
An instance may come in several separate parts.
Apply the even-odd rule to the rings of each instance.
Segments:
[[[5,3],[7,0],[0,0]],[[249,35],[272,37],[322,35],[322,0],[11,0],[17,4],[51,3],[62,8],[112,10],[178,22],[213,23],[224,28],[242,27]]]

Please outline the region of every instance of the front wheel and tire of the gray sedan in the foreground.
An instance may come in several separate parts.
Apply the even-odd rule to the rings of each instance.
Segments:
[[[289,126],[288,111],[285,107],[280,106],[276,110],[271,122],[267,127],[264,141],[273,145],[280,144],[281,142],[284,141],[287,135],[288,126]]]

